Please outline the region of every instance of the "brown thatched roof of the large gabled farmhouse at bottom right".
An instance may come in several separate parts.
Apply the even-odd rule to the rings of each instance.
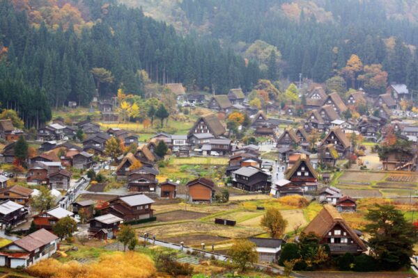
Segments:
[[[362,248],[363,251],[367,250],[366,245],[363,241],[357,236],[355,231],[348,226],[346,220],[336,211],[334,206],[326,204],[323,209],[316,215],[316,217],[308,224],[308,226],[303,230],[305,234],[313,232],[314,234],[323,238],[335,224],[340,224],[341,227],[346,229],[351,238]]]

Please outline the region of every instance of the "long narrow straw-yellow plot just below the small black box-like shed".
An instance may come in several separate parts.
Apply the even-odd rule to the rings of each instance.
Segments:
[[[173,236],[190,236],[206,234],[210,236],[222,236],[225,238],[247,238],[261,234],[263,230],[249,227],[229,227],[206,222],[187,222],[178,224],[167,224],[154,227],[141,227],[137,230],[140,234],[147,232],[157,238]]]

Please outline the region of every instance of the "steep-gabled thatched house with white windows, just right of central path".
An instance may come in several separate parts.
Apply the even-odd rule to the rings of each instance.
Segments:
[[[305,154],[301,154],[295,164],[284,172],[284,177],[304,191],[315,191],[318,187],[318,174]]]

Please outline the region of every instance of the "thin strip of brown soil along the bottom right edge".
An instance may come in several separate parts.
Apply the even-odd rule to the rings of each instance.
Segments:
[[[417,277],[412,273],[405,272],[300,272],[300,274],[311,278],[408,278]]]

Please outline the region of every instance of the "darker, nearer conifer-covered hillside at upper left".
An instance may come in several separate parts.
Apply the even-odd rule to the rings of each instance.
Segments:
[[[1,106],[15,108],[26,126],[49,120],[49,106],[88,105],[96,93],[116,95],[123,87],[142,95],[141,70],[152,81],[217,93],[249,90],[258,79],[256,63],[217,40],[183,38],[139,9],[61,2],[0,0]]]

